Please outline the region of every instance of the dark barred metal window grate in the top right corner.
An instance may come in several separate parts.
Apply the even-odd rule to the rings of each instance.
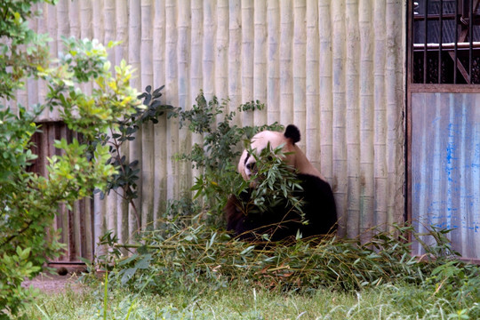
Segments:
[[[412,82],[480,84],[480,0],[412,3]]]

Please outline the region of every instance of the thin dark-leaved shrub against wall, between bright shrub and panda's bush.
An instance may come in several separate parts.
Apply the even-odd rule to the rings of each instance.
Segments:
[[[154,92],[151,92],[152,88],[148,85],[145,88],[145,92],[138,96],[138,99],[143,99],[141,108],[136,106],[134,113],[124,116],[124,118],[117,120],[116,123],[112,123],[109,132],[100,134],[96,142],[103,146],[109,146],[111,157],[108,159],[107,164],[112,164],[117,169],[117,172],[109,177],[105,193],[109,194],[111,190],[117,192],[118,188],[123,189],[121,196],[127,203],[132,205],[139,230],[140,214],[133,201],[138,197],[137,180],[139,180],[140,169],[137,169],[137,166],[139,161],[137,159],[127,161],[127,157],[122,152],[122,146],[127,141],[135,140],[135,134],[139,131],[142,124],[148,122],[157,124],[159,116],[167,113],[170,117],[177,112],[176,108],[161,103],[160,97],[162,97],[161,91],[163,89],[164,86],[161,86]],[[104,198],[104,192],[100,189],[97,189],[96,192],[100,192],[100,197]]]

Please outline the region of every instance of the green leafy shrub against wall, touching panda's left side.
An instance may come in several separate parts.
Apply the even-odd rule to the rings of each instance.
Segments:
[[[196,105],[181,111],[180,127],[187,126],[190,132],[202,136],[202,144],[194,144],[190,154],[182,154],[180,160],[190,161],[192,168],[200,171],[192,188],[196,198],[201,197],[212,222],[221,220],[222,209],[228,196],[239,195],[247,184],[236,172],[236,161],[242,151],[241,142],[263,130],[280,130],[274,123],[261,126],[238,127],[235,117],[242,112],[260,111],[265,106],[260,101],[244,103],[234,111],[227,111],[229,100],[206,100],[204,92],[196,97]]]

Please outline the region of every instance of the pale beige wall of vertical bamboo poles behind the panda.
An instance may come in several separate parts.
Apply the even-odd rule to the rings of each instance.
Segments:
[[[300,148],[332,184],[340,235],[403,221],[404,0],[60,0],[41,9],[31,23],[52,36],[52,55],[61,35],[119,40],[110,60],[138,70],[139,91],[165,84],[165,102],[181,108],[200,90],[234,108],[260,100],[267,109],[237,124],[297,124]],[[24,105],[46,92],[27,86]],[[162,119],[126,150],[140,158],[143,226],[191,185],[195,172],[172,156],[196,141]],[[127,241],[137,228],[120,196],[95,198],[94,217],[97,236],[115,229]]]

